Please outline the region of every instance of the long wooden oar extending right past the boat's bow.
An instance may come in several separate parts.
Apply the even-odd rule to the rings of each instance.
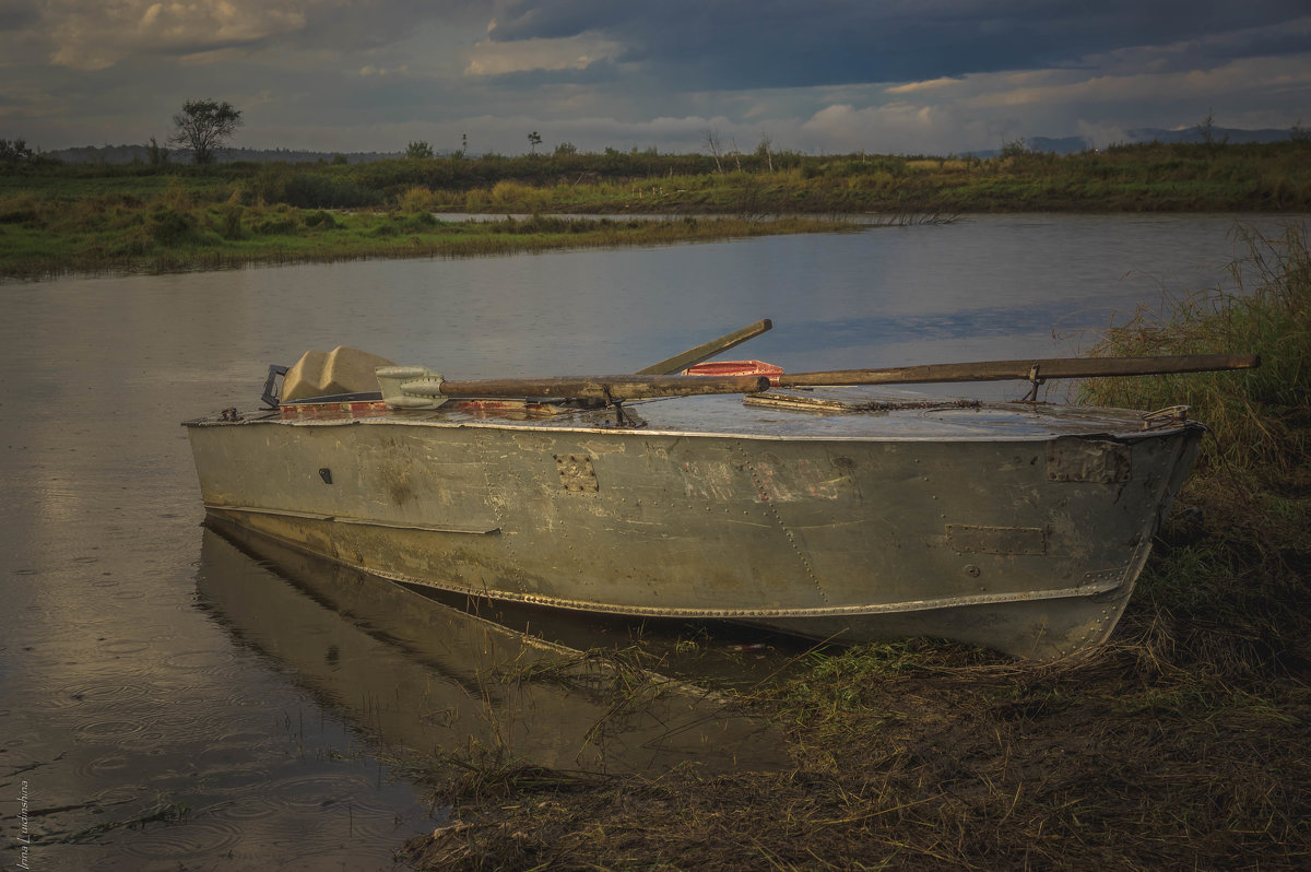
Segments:
[[[978,363],[926,363],[885,370],[834,370],[791,372],[779,376],[779,387],[838,387],[848,384],[927,384],[935,382],[1011,382],[1027,379],[1089,379],[1165,372],[1251,370],[1261,365],[1259,354],[1181,354],[1176,357],[1046,358],[1036,361],[981,361]]]

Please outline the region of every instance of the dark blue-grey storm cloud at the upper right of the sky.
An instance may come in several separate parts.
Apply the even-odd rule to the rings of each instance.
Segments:
[[[1303,52],[1304,35],[1217,38],[1308,14],[1306,0],[505,0],[489,38],[594,33],[624,46],[614,60],[670,85],[797,88],[1062,67],[1185,41],[1211,41],[1217,58]]]

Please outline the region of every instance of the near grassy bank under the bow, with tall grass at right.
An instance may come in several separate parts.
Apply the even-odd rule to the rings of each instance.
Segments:
[[[932,641],[813,653],[733,691],[785,771],[648,778],[434,764],[427,869],[1311,865],[1311,248],[1252,239],[1104,354],[1256,351],[1260,370],[1089,384],[1217,422],[1109,645],[1033,666]],[[628,688],[625,692],[631,692]]]

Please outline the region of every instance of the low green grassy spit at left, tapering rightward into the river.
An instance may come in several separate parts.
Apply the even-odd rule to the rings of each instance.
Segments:
[[[148,199],[0,202],[0,277],[68,271],[176,271],[243,264],[367,257],[471,257],[560,248],[665,245],[770,233],[850,229],[788,218],[561,219],[541,215],[446,222],[427,211],[328,211],[203,202],[182,189]]]

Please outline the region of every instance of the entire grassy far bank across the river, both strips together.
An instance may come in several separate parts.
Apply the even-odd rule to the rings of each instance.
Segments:
[[[0,277],[490,254],[834,229],[985,211],[1311,211],[1311,143],[895,155],[439,157],[370,164],[0,165]],[[494,226],[480,212],[730,215]],[[777,215],[813,222],[763,222]]]

